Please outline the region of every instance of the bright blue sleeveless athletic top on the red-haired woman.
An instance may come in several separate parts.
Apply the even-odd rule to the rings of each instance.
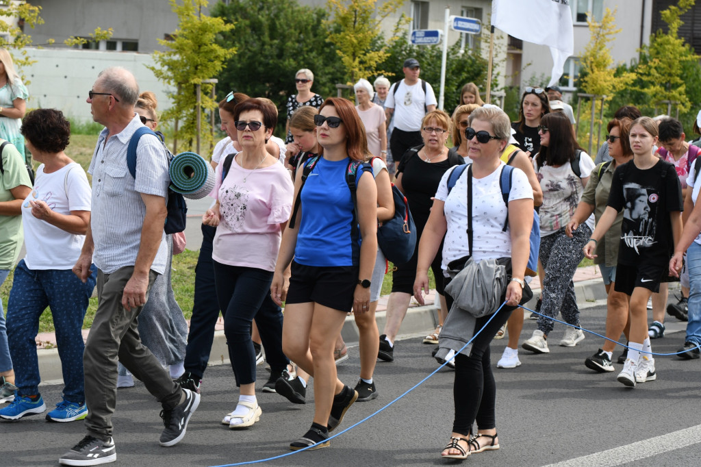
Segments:
[[[353,200],[346,183],[350,158],[327,161],[321,157],[301,192],[301,221],[294,261],[305,266],[358,266],[353,258],[351,223]],[[355,175],[355,186],[365,169]],[[368,170],[372,175],[372,170]],[[360,246],[360,238],[358,238]],[[360,248],[358,248],[358,251]]]

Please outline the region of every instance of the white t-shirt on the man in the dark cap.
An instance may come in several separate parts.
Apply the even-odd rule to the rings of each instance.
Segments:
[[[394,92],[395,86],[399,86],[396,96]],[[395,97],[397,97],[397,102],[395,102]],[[429,83],[426,83],[426,95],[423,94],[420,79],[416,81],[414,86],[408,86],[403,79],[398,84],[394,83],[390,87],[387,93],[387,100],[385,101],[386,108],[394,109],[393,122],[395,128],[399,128],[402,131],[421,130],[421,121],[426,116],[424,104],[426,106],[437,105],[437,101],[433,88],[431,88]]]

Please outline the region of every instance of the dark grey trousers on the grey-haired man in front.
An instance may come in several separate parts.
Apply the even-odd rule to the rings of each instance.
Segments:
[[[124,287],[132,276],[133,266],[111,274],[97,271],[97,313],[90,327],[83,353],[85,371],[88,435],[107,440],[112,435],[112,414],[117,398],[117,360],[135,377],[144,381],[149,393],[164,408],[179,403],[182,390],[170,379],[161,363],[139,339],[138,316],[143,306],[126,311],[121,304]],[[158,273],[150,271],[149,287]]]

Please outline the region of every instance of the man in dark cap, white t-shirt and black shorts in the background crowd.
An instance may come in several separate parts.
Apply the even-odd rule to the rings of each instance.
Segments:
[[[395,168],[409,148],[423,144],[421,121],[430,111],[436,109],[436,96],[429,83],[419,79],[421,67],[416,58],[404,61],[404,79],[394,83],[387,94],[385,114],[387,121],[394,115],[394,130],[390,138],[390,150]]]

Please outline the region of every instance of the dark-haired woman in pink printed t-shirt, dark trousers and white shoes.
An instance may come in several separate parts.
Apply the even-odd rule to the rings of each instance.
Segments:
[[[236,409],[226,414],[222,424],[235,429],[251,426],[262,412],[255,396],[253,318],[271,366],[266,386],[273,387],[290,363],[282,348],[283,316],[269,290],[280,236],[292,208],[292,181],[266,150],[277,123],[273,105],[246,100],[236,105],[233,119],[242,151],[232,159],[223,180],[224,162],[217,165],[217,203],[207,210],[203,222],[217,226],[212,251],[217,300],[240,388]]]

